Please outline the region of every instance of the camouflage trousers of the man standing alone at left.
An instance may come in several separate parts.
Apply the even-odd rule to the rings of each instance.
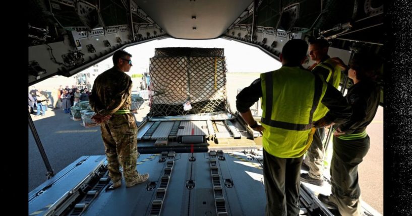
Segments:
[[[122,179],[120,166],[126,182],[138,176],[137,162],[137,125],[132,113],[113,114],[109,121],[100,124],[107,168],[113,182]]]

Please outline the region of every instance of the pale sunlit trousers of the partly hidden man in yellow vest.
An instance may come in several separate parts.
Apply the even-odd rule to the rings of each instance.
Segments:
[[[323,138],[325,137],[325,128],[318,128],[313,134],[313,141],[308,149],[304,163],[308,165],[308,175],[314,179],[323,180],[323,155],[325,148],[323,147]]]

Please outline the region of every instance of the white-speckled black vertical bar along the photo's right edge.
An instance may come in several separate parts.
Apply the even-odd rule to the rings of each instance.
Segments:
[[[412,1],[386,1],[384,10],[383,210],[384,215],[411,215]]]

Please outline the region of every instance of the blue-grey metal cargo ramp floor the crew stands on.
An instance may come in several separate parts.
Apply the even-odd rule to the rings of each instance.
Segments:
[[[105,157],[83,156],[29,193],[28,214],[265,215],[262,160],[253,150],[142,154],[137,168],[149,180],[113,189]],[[300,215],[338,215],[316,198],[328,190],[301,184]]]

